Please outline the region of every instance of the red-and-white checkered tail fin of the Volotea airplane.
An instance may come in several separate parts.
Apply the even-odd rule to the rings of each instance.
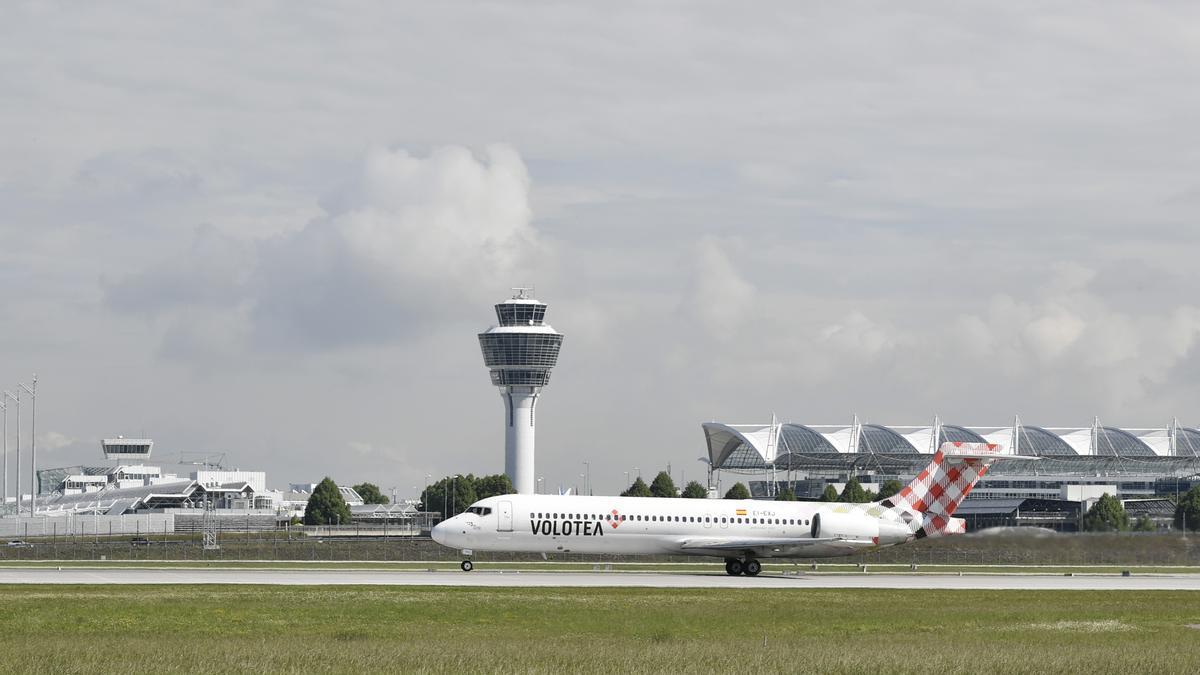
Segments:
[[[917,537],[960,534],[966,532],[966,522],[952,518],[954,510],[988,467],[1002,456],[1003,448],[991,443],[942,443],[934,460],[912,483],[881,503],[918,516]]]

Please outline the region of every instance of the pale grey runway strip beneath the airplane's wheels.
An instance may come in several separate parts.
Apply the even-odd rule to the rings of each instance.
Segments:
[[[1200,591],[1200,574],[762,574],[630,572],[421,572],[380,569],[0,568],[4,584],[265,584],[287,586],[474,586],[640,589],[950,589]]]

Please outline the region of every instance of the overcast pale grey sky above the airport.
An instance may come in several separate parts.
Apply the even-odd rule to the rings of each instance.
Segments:
[[[476,334],[533,286],[551,489],[702,478],[708,420],[1196,426],[1198,26],[7,2],[0,387],[37,374],[40,466],[145,435],[414,495],[503,471]]]

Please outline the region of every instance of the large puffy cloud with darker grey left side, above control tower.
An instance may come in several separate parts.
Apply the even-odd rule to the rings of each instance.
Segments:
[[[420,333],[527,282],[551,255],[530,225],[529,174],[508,145],[426,157],[376,148],[322,203],[322,216],[265,239],[202,226],[185,253],[108,281],[107,301],[169,315],[168,356],[228,353],[238,338],[337,348]],[[203,319],[214,330],[188,318],[214,307],[227,312]]]

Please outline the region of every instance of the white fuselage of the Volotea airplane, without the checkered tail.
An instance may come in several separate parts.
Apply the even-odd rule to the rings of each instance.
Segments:
[[[847,555],[881,542],[877,519],[865,514],[860,537],[836,545],[814,540],[814,516],[836,504],[754,500],[504,495],[472,504],[438,524],[433,538],[478,551],[761,557]],[[828,516],[827,516],[828,518]],[[857,518],[857,516],[856,516]],[[870,528],[875,527],[876,531]],[[901,539],[907,540],[907,531]],[[739,548],[739,543],[746,545]],[[752,543],[752,545],[750,545]],[[797,546],[802,544],[802,546]]]

